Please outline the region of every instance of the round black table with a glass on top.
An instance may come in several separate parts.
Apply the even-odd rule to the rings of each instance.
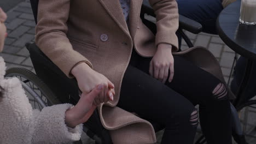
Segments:
[[[248,100],[244,102],[245,97],[243,95],[246,91],[249,76],[251,75],[253,62],[256,61],[256,26],[240,24],[240,5],[241,0],[228,5],[217,19],[219,37],[232,50],[248,59],[245,74],[237,91],[236,100],[234,101],[237,109],[248,102]]]

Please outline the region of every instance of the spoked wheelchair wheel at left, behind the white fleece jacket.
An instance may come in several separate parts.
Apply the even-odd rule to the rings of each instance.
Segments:
[[[49,87],[30,70],[10,68],[6,71],[5,77],[17,77],[21,81],[33,109],[42,110],[45,106],[60,104]]]

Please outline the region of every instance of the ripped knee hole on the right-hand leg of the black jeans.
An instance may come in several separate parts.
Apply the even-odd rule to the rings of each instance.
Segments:
[[[225,87],[224,83],[219,83],[216,88],[214,88],[212,93],[214,98],[222,100],[227,98],[226,96],[228,95],[228,89]]]

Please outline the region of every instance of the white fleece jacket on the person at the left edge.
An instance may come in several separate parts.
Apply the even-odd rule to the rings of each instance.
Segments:
[[[16,77],[4,79],[5,63],[0,57],[0,85],[4,88],[0,102],[0,143],[67,143],[77,141],[83,125],[70,129],[65,124],[65,111],[71,104],[33,110]]]

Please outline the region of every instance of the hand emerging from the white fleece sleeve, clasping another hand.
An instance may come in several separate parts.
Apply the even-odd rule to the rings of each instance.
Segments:
[[[88,121],[96,109],[96,105],[92,103],[102,91],[103,84],[100,84],[96,86],[90,93],[83,93],[78,103],[72,109],[66,111],[65,123],[69,128],[74,128],[76,125]]]

